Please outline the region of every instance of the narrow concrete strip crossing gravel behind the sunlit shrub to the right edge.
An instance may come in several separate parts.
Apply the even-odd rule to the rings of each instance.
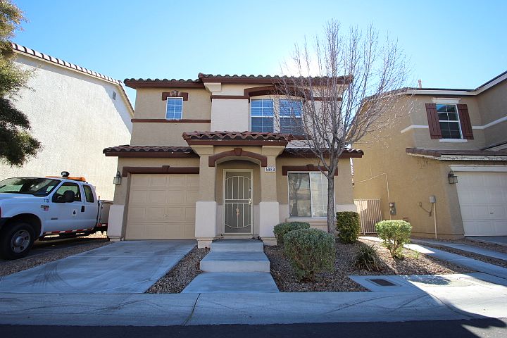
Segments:
[[[365,236],[361,238],[368,239],[374,242],[382,242],[382,239],[377,237]],[[407,249],[424,253],[427,256],[442,259],[442,261],[449,261],[450,263],[464,266],[465,268],[469,268],[470,270],[475,270],[479,271],[480,273],[487,273],[488,275],[507,279],[507,269],[501,268],[498,265],[484,263],[482,261],[477,261],[476,259],[456,255],[456,253],[450,253],[439,249],[433,249],[430,248],[429,246],[423,246],[418,244],[405,244],[404,246]]]

